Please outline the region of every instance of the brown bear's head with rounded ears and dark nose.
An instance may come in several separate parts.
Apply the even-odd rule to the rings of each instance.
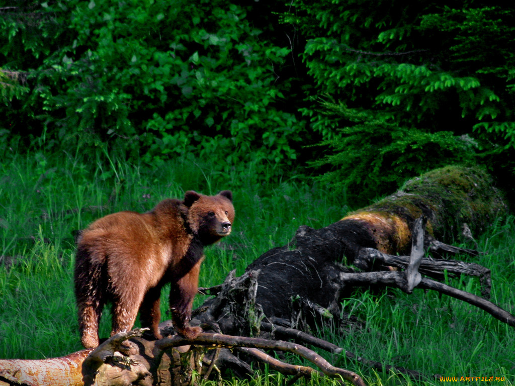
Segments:
[[[230,190],[222,190],[216,196],[188,190],[184,195],[184,205],[188,208],[190,229],[202,244],[212,244],[231,233],[234,207]]]

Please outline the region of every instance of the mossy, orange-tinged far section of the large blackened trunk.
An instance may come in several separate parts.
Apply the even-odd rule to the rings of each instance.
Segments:
[[[427,219],[429,235],[451,243],[482,233],[506,211],[500,191],[483,169],[447,166],[407,181],[393,195],[350,213],[340,224],[362,229],[380,252],[406,255],[419,217]]]

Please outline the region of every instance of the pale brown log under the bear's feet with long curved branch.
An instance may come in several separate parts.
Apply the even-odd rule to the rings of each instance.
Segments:
[[[140,338],[142,332],[143,329],[120,332],[95,349],[82,350],[81,356],[73,354],[72,372],[62,372],[64,369],[60,366],[71,356],[47,359],[46,366],[42,366],[41,360],[0,361],[0,385],[187,385],[195,381],[195,371],[203,370],[199,364],[202,363],[205,350],[238,347],[242,352],[268,363],[272,369],[295,378],[310,377],[315,370],[284,363],[259,348],[294,353],[314,363],[325,375],[341,377],[355,386],[366,386],[357,374],[331,365],[313,350],[296,343],[205,332],[194,342],[178,335],[148,341]],[[193,343],[195,346],[192,346]]]

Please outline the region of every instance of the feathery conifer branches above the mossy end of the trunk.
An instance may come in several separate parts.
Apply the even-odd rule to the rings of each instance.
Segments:
[[[474,155],[513,167],[506,161],[515,147],[512,6],[293,5],[284,21],[307,40],[302,57],[316,94],[303,113],[333,150],[316,163],[333,166],[328,181],[373,197],[428,165],[472,162]]]

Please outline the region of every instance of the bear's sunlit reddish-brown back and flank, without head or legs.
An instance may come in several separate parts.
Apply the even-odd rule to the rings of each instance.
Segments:
[[[151,212],[117,212],[96,220],[80,235],[77,256],[107,262],[111,276],[128,278],[139,272],[155,285],[184,256],[191,241],[180,204],[164,200]]]

